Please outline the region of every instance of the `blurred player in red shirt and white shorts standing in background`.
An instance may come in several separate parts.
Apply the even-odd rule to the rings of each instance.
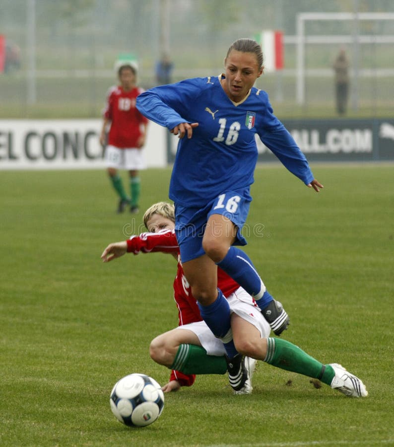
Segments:
[[[127,205],[130,205],[131,213],[138,213],[141,189],[138,171],[146,167],[141,148],[145,144],[148,120],[135,108],[135,99],[143,91],[135,85],[135,64],[122,61],[118,77],[120,85],[111,87],[107,94],[100,143],[103,147],[107,145],[105,161],[112,185],[119,196],[118,213],[122,213]],[[123,187],[118,169],[129,171],[130,197]]]

